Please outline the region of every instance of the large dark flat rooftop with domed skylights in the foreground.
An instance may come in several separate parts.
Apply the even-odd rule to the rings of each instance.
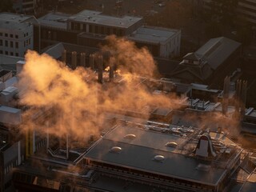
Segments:
[[[183,128],[170,126],[170,130],[182,131]],[[190,134],[197,130],[188,128]],[[186,134],[189,135],[187,132]],[[134,135],[134,136],[130,136]],[[130,138],[131,137],[131,138]],[[192,136],[191,136],[192,137]],[[223,134],[210,134],[213,139],[219,139],[226,145],[235,145]],[[194,138],[196,138],[194,136]],[[167,142],[175,142],[177,147],[166,146]],[[210,166],[209,170],[200,170],[200,165],[210,165],[211,162],[202,158],[187,155],[188,149],[195,148],[197,142],[192,142],[190,136],[163,134],[157,131],[143,130],[134,126],[117,126],[110,131],[86,153],[85,158],[96,162],[104,162],[114,166],[124,166],[147,173],[164,175],[172,178],[186,179],[190,182],[216,186],[226,174],[221,166]],[[120,147],[118,153],[111,152],[114,147]],[[192,151],[192,150],[191,150]],[[162,155],[164,160],[155,161],[156,155]],[[221,159],[221,158],[220,158]],[[227,160],[223,160],[224,163]],[[211,174],[210,174],[211,173]]]

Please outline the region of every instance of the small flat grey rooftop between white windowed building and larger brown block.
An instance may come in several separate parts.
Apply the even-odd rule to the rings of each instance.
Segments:
[[[38,21],[42,26],[50,26],[50,27],[66,30],[67,19],[69,17],[70,17],[70,14],[49,13],[42,16],[41,18],[38,18]]]

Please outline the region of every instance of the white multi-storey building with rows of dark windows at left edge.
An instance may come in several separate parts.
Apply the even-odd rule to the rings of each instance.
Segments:
[[[0,54],[23,57],[34,48],[34,17],[22,14],[0,14]]]

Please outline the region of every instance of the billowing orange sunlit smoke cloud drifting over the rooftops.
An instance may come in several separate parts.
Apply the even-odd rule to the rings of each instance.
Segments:
[[[138,49],[134,43],[114,36],[108,38],[108,44],[102,50],[113,55],[122,82],[99,84],[90,69],[78,67],[71,70],[47,54],[40,55],[29,50],[18,83],[20,104],[30,106],[24,113],[26,118],[23,118],[22,127],[38,127],[42,132],[47,130],[57,136],[68,133],[72,138],[89,138],[98,134],[105,118],[104,109],[175,107],[173,95],[151,94],[150,86],[140,83],[138,76],[154,78],[158,74],[148,50]],[[33,125],[34,109],[43,111],[49,108],[52,112],[43,117],[43,122],[50,122],[49,126]]]

